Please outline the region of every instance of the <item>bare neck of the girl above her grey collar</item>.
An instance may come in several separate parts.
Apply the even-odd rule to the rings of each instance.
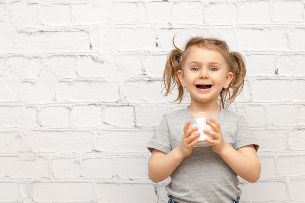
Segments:
[[[214,114],[214,118],[216,118],[220,113],[220,106],[217,101],[215,102],[198,102],[191,101],[188,107],[189,113],[198,113],[198,112],[209,112]]]

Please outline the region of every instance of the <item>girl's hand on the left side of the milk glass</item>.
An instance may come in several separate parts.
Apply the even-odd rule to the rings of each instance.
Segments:
[[[194,127],[189,129],[190,124],[191,121],[188,121],[184,125],[183,137],[178,145],[179,151],[183,157],[189,156],[191,154],[193,147],[198,143],[198,140],[195,139],[200,136],[200,133],[191,134],[192,132],[198,130],[198,128]]]

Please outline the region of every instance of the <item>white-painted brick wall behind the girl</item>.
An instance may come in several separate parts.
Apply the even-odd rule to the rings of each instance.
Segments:
[[[175,33],[219,37],[248,72],[231,109],[260,140],[243,203],[305,202],[305,0],[1,0],[3,203],[165,203],[147,142]]]

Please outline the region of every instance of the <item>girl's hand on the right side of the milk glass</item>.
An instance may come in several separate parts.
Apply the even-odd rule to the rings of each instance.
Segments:
[[[209,134],[214,137],[214,140],[211,139],[205,139],[206,142],[212,144],[212,149],[215,153],[221,152],[221,150],[224,148],[226,142],[222,136],[221,130],[220,130],[220,124],[215,119],[211,118],[210,121],[207,121],[207,124],[212,127],[214,130],[203,130],[204,133]]]

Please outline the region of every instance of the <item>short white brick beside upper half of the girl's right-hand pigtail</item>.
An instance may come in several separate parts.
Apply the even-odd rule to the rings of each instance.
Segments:
[[[247,76],[273,76],[275,75],[274,55],[247,55]],[[277,64],[278,65],[278,64]]]

